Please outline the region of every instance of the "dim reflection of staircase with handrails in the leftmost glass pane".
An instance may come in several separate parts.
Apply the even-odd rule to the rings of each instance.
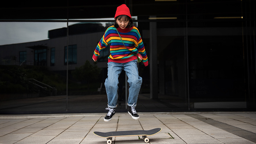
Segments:
[[[47,84],[37,81],[36,79],[27,79],[38,90],[39,96],[56,96],[57,89]]]

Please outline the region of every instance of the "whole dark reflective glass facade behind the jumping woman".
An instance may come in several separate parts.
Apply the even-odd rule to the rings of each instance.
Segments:
[[[138,112],[255,111],[255,0],[68,0],[1,6],[0,114],[105,112],[109,49],[92,55],[122,4],[149,59]]]

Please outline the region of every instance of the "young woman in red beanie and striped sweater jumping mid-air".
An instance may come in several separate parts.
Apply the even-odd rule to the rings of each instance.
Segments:
[[[96,61],[101,50],[106,48],[107,45],[110,45],[108,77],[105,81],[108,98],[108,107],[106,110],[109,110],[109,112],[105,116],[104,121],[110,121],[115,115],[115,108],[117,107],[117,84],[119,83],[118,77],[123,69],[128,76],[128,83],[130,85],[127,102],[129,106],[128,113],[133,119],[137,120],[139,119],[139,115],[135,107],[142,84],[142,78],[138,73],[137,59],[142,57],[143,64],[147,66],[147,53],[139,30],[133,26],[130,10],[125,4],[117,7],[114,18],[115,24],[107,28],[92,56],[92,59]]]

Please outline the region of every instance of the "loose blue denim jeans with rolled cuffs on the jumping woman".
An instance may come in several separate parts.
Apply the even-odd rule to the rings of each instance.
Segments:
[[[110,108],[117,107],[118,77],[123,69],[128,77],[127,82],[130,85],[127,105],[132,106],[134,104],[133,107],[136,107],[142,78],[139,76],[137,60],[132,60],[126,63],[108,62],[108,77],[105,81],[105,87],[108,107]]]

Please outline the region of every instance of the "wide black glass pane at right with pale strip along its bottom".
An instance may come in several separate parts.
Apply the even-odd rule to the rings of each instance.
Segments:
[[[246,108],[242,22],[188,25],[191,108]]]

